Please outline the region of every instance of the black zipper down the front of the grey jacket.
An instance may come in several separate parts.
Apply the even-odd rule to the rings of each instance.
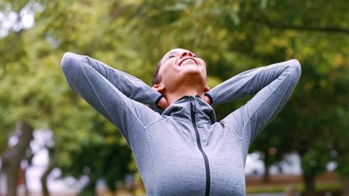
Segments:
[[[194,100],[194,104],[191,102],[192,100]],[[197,147],[200,150],[200,152],[203,154],[203,157],[204,157],[204,160],[205,160],[205,169],[206,169],[206,190],[205,190],[205,196],[209,196],[210,195],[210,185],[211,185],[210,165],[209,165],[209,162],[208,162],[207,155],[204,152],[203,147],[201,146],[200,134],[198,133],[198,130],[197,130],[197,127],[196,127],[196,121],[195,121],[195,113],[197,112],[196,99],[193,98],[193,97],[189,97],[189,101],[190,101],[191,123],[193,124],[194,130],[195,130]]]

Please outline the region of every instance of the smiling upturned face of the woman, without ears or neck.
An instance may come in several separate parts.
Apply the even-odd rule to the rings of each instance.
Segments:
[[[195,85],[205,88],[207,81],[206,64],[189,50],[172,49],[161,60],[159,69],[160,83],[166,90],[174,91],[177,87],[196,82]]]

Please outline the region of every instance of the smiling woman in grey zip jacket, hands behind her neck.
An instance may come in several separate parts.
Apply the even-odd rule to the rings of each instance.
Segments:
[[[205,62],[181,48],[164,55],[153,89],[87,56],[68,52],[61,66],[69,86],[126,138],[148,195],[245,195],[248,147],[301,75],[291,60],[245,71],[209,90]],[[255,93],[216,122],[212,106]]]

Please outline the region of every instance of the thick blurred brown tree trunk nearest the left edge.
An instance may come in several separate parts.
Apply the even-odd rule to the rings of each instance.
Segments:
[[[33,138],[33,128],[26,122],[20,125],[18,143],[4,152],[3,170],[7,176],[7,195],[16,196],[17,179],[20,161],[26,154],[29,143]]]

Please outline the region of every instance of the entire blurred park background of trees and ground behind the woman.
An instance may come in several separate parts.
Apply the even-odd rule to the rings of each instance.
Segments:
[[[151,85],[178,47],[205,60],[211,88],[300,61],[290,100],[251,146],[246,192],[349,195],[346,0],[0,0],[0,195],[146,195],[126,141],[60,61],[89,55]],[[215,107],[217,119],[250,98]]]

